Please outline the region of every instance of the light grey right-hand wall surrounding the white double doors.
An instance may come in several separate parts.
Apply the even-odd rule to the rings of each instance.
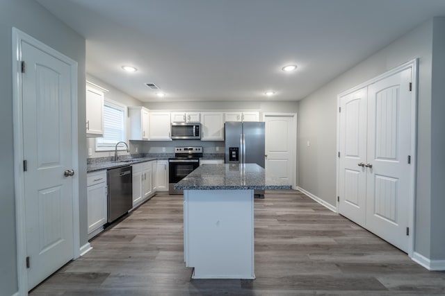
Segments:
[[[385,73],[385,71],[404,62],[419,58],[416,237],[414,250],[427,258],[430,258],[431,255],[432,25],[432,20],[426,21],[410,33],[389,44],[385,49],[371,55],[357,66],[321,87],[314,94],[304,98],[299,103],[300,116],[298,117],[298,185],[318,196],[318,198],[335,205],[337,94]],[[444,34],[442,30],[439,32],[442,35]],[[441,48],[442,46],[443,44],[438,47]],[[442,50],[442,55],[443,52]],[[440,104],[438,103],[438,105]],[[442,108],[442,110],[444,109]],[[444,119],[441,118],[438,121],[442,123],[443,127]],[[443,141],[443,139],[442,135],[440,141]],[[307,141],[310,141],[311,146],[307,147]],[[443,143],[441,147],[443,147]],[[443,211],[444,207],[441,209]],[[442,221],[440,225],[445,225],[444,218],[439,218],[439,220]],[[443,245],[444,241],[442,241],[442,249]],[[442,259],[444,259],[444,256],[442,256]]]

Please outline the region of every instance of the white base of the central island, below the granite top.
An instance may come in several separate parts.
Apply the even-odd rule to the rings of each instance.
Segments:
[[[184,260],[193,279],[254,279],[254,191],[184,190]]]

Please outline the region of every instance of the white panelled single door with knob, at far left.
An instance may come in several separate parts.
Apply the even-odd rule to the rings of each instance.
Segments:
[[[22,41],[28,288],[73,258],[70,65]]]

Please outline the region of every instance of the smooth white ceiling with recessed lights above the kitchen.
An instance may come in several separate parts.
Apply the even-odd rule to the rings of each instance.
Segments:
[[[86,38],[88,73],[147,102],[297,101],[445,16],[444,0],[37,1]]]

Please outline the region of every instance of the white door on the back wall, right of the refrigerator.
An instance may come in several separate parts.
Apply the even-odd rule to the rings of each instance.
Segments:
[[[294,115],[268,115],[266,122],[266,173],[295,183],[296,126]]]

